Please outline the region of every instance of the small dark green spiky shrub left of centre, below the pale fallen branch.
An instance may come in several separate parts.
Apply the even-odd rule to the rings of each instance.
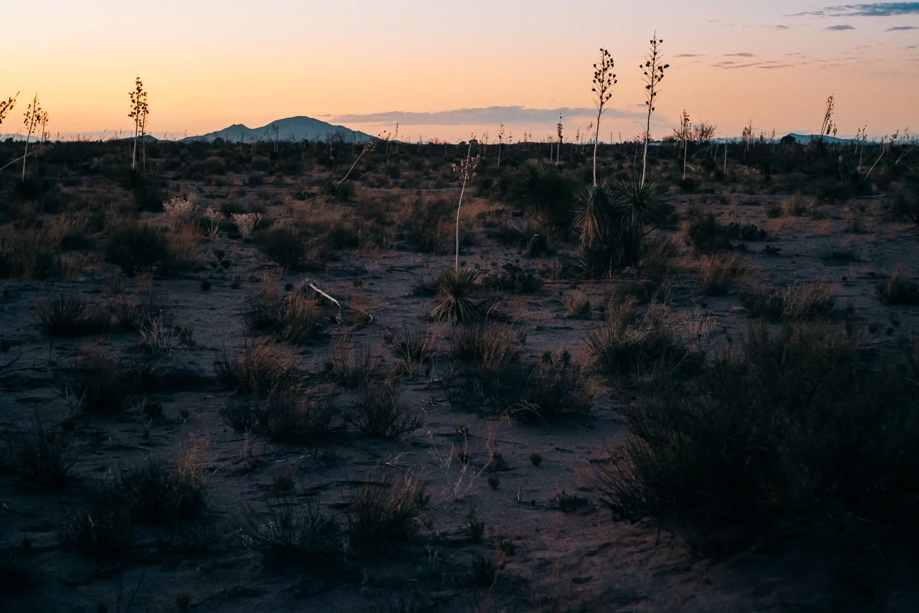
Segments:
[[[414,432],[425,421],[399,402],[391,381],[368,381],[357,390],[348,423],[365,437],[397,438]]]

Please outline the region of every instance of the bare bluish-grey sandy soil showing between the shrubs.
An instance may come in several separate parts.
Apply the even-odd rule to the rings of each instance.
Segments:
[[[699,204],[699,197],[673,197],[677,210]],[[906,225],[882,221],[870,199],[860,233],[844,233],[839,208],[821,219],[766,218],[768,197],[754,203],[741,196],[708,203],[722,221],[754,222],[766,228],[766,244],[750,243],[741,256],[754,269],[751,279],[777,283],[825,279],[834,284],[837,305],[851,304],[858,321],[878,324],[874,340],[892,342],[917,329],[915,308],[887,308],[874,297],[874,283],[902,265],[907,275],[919,270],[919,240]],[[336,205],[341,214],[352,214]],[[463,214],[474,229],[485,201]],[[268,214],[272,214],[270,211]],[[278,216],[281,212],[278,211]],[[481,228],[480,228],[481,230]],[[683,249],[677,228],[665,228]],[[208,248],[202,242],[202,249]],[[130,356],[138,334],[113,332],[98,337],[54,339],[33,320],[41,296],[79,294],[102,309],[111,293],[114,267],[97,267],[81,278],[44,284],[9,281],[0,298],[0,430],[14,437],[39,414],[48,423],[68,422],[73,437],[67,448],[74,481],[47,491],[0,476],[0,551],[16,556],[39,582],[37,589],[6,596],[4,611],[848,611],[857,604],[838,587],[838,568],[819,550],[746,551],[723,559],[698,560],[678,537],[650,524],[614,522],[602,505],[594,467],[611,440],[625,431],[617,408],[630,390],[617,380],[600,380],[589,414],[550,424],[484,417],[448,402],[441,379],[448,372],[448,346],[454,329],[431,324],[433,298],[414,295],[419,278],[433,278],[453,264],[450,256],[400,251],[344,252],[321,269],[289,271],[283,276],[259,258],[252,244],[224,241],[233,267],[221,273],[205,268],[184,278],[123,278],[122,291],[155,294],[176,324],[193,332],[194,343],[169,356],[185,375],[183,384],[133,395],[115,414],[81,414],[66,393],[67,372],[81,346]],[[854,256],[843,263],[827,259],[834,250]],[[686,254],[689,252],[686,251]],[[688,258],[688,255],[686,255]],[[527,259],[477,232],[462,259],[482,270],[519,260],[543,267],[553,258]],[[233,287],[233,277],[242,279]],[[306,346],[290,346],[302,369],[313,373],[307,393],[322,393],[346,405],[345,388],[323,380],[324,364],[346,335],[352,346],[367,346],[383,368],[394,358],[388,335],[403,326],[432,327],[438,355],[432,365],[405,376],[400,400],[424,426],[394,440],[346,433],[316,446],[278,443],[257,434],[235,432],[221,416],[233,401],[214,377],[214,362],[233,353],[247,336],[248,299],[262,291],[285,292],[309,277],[333,296],[359,303],[372,312],[371,324],[329,317],[320,335]],[[212,286],[205,291],[201,280]],[[584,282],[592,308],[569,317],[562,297],[571,282],[547,280],[532,295],[499,295],[496,308],[525,333],[521,360],[533,362],[546,351],[567,348],[582,357],[585,335],[601,324],[603,305],[616,279]],[[359,287],[357,287],[359,285]],[[669,284],[668,317],[675,322],[708,318],[709,342],[724,344],[743,335],[748,318],[735,292],[705,298],[691,270]],[[334,313],[328,310],[327,315]],[[144,415],[144,403],[161,403],[162,414]],[[200,517],[176,525],[134,530],[130,554],[119,560],[96,559],[67,547],[70,517],[91,508],[99,488],[127,466],[150,457],[175,460],[189,448],[203,447],[206,506]],[[469,454],[468,467],[457,460]],[[499,471],[485,471],[495,453],[505,459]],[[530,456],[542,457],[539,466]],[[246,530],[277,517],[279,508],[319,505],[333,516],[344,513],[360,484],[382,473],[410,474],[425,483],[429,500],[423,525],[404,543],[383,551],[351,554],[335,572],[304,570],[297,564],[267,563],[246,546]],[[497,479],[494,479],[494,477]],[[281,491],[278,477],[292,482]],[[493,483],[489,480],[492,479]],[[494,484],[494,487],[493,487]],[[564,495],[562,495],[564,494]],[[567,498],[566,498],[567,496]],[[577,499],[565,508],[560,501]],[[484,524],[481,542],[471,539],[468,516]],[[170,546],[199,535],[199,548]],[[203,536],[201,536],[203,535]],[[342,545],[342,555],[346,545]],[[880,556],[880,554],[879,554]],[[867,557],[866,573],[881,574],[889,610],[916,610],[919,599],[909,574],[893,564],[880,570],[882,558]],[[497,562],[491,585],[477,585],[477,563]],[[480,582],[481,583],[481,582]]]

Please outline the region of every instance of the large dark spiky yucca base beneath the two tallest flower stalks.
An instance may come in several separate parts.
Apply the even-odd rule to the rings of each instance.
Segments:
[[[636,266],[641,260],[643,238],[666,218],[661,184],[641,176],[591,187],[582,196],[578,215],[581,250],[593,274]]]

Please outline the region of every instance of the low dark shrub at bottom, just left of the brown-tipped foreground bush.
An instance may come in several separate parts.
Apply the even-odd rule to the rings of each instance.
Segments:
[[[276,505],[268,509],[268,515],[264,522],[249,517],[243,530],[244,544],[265,562],[328,566],[343,559],[341,526],[319,505]]]

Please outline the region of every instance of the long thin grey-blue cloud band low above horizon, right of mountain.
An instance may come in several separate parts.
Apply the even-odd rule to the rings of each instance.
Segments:
[[[643,105],[642,105],[643,106]],[[631,110],[610,108],[610,117],[622,119],[638,119],[642,113]],[[384,113],[366,113],[338,115],[334,118],[338,123],[402,123],[404,125],[422,126],[463,126],[487,123],[554,123],[559,120],[559,115],[570,117],[593,117],[596,108],[524,108],[524,107],[487,107],[487,108],[456,108],[453,110],[438,110],[429,113],[393,110]]]

